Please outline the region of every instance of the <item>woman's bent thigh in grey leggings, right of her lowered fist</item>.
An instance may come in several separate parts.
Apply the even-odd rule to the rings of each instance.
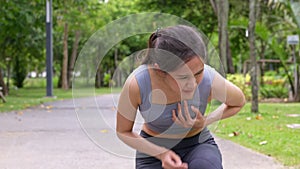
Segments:
[[[184,157],[189,169],[222,169],[222,155],[216,145],[203,143],[195,146]]]

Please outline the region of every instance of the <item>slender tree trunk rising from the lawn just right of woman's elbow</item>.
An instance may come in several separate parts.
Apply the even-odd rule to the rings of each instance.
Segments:
[[[250,0],[249,3],[249,45],[250,45],[250,60],[251,60],[251,92],[252,104],[251,112],[258,112],[258,83],[257,83],[257,63],[255,52],[255,0]]]

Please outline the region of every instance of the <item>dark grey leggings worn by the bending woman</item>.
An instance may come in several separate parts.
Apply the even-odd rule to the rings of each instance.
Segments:
[[[213,137],[199,143],[199,134],[183,140],[155,138],[144,131],[141,136],[157,145],[167,147],[177,153],[189,169],[222,169],[222,156]],[[178,144],[176,144],[178,143]],[[175,145],[176,144],[176,145]],[[170,145],[175,145],[168,147]],[[162,169],[162,163],[155,157],[136,153],[136,169]]]

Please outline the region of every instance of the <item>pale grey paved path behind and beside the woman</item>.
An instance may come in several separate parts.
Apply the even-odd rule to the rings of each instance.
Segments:
[[[112,96],[76,99],[75,105],[78,116],[72,100],[0,113],[0,168],[133,169],[133,151],[115,140]],[[270,157],[216,140],[224,169],[283,168]]]

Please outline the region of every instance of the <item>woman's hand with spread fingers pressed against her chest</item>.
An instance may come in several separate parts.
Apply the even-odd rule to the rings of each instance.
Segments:
[[[181,125],[185,128],[195,128],[195,129],[201,129],[202,130],[205,127],[205,119],[206,118],[194,106],[191,106],[191,109],[196,114],[195,118],[191,117],[191,115],[189,113],[187,101],[184,101],[184,115],[185,115],[185,117],[184,117],[183,114],[182,114],[181,104],[178,103],[178,112],[177,112],[178,115],[176,116],[175,110],[172,111],[173,121],[176,124]]]

